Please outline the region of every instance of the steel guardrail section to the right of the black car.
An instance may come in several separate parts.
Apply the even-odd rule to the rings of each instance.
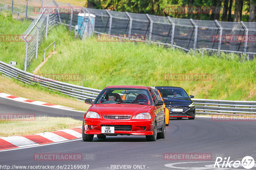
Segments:
[[[256,101],[192,100],[196,105],[197,114],[256,116]]]

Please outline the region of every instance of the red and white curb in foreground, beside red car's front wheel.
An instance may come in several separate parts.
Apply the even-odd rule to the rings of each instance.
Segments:
[[[35,135],[0,137],[0,151],[82,138],[82,126]]]

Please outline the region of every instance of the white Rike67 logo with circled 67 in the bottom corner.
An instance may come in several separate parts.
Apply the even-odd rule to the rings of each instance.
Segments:
[[[222,162],[223,161],[223,162]],[[251,156],[245,156],[242,161],[240,160],[230,160],[230,157],[217,157],[213,167],[222,167],[222,168],[238,168],[243,166],[245,169],[251,169],[254,166],[254,159]]]

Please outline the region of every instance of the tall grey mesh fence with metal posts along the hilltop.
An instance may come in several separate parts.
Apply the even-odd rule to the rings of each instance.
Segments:
[[[42,8],[41,8],[42,7]],[[181,19],[130,12],[89,9],[47,0],[0,0],[0,10],[12,11],[13,17],[34,18],[24,32],[26,53],[24,70],[37,58],[38,46],[54,25],[69,27],[82,39],[89,30],[96,34],[144,35],[150,43],[163,44],[208,54],[236,53],[244,59],[256,56],[256,22],[222,22]],[[38,12],[39,11],[39,12]],[[15,14],[16,13],[16,14]],[[79,13],[85,13],[79,24]],[[93,14],[93,17],[92,15]],[[26,35],[32,35],[28,42]]]

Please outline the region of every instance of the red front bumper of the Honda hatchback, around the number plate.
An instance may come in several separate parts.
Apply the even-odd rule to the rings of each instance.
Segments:
[[[122,126],[122,125],[130,125],[131,130],[120,131],[116,130],[118,128],[115,127],[115,133],[111,134],[127,134],[127,135],[153,135],[154,128],[154,119],[131,119],[131,120],[103,120],[103,119],[95,119],[95,118],[86,118],[84,119],[84,129],[85,134],[101,134],[101,126],[102,125],[112,125],[112,126]],[[108,133],[105,133],[108,134]]]

